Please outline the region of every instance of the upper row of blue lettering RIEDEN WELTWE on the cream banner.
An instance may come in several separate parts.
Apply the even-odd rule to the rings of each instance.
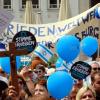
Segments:
[[[89,12],[86,16],[82,16],[82,17],[80,17],[76,20],[73,20],[72,22],[66,23],[62,26],[55,26],[55,24],[54,24],[51,26],[29,27],[29,26],[17,24],[16,27],[14,27],[14,25],[9,24],[7,33],[11,33],[14,35],[19,31],[27,30],[27,31],[32,32],[35,36],[38,36],[38,37],[57,35],[61,32],[64,32],[64,31],[70,29],[70,28],[73,28],[74,26],[78,27],[78,26],[80,26],[81,23],[83,23],[83,24],[88,23],[90,20],[95,18],[94,13],[95,13],[95,10]],[[45,29],[47,29],[46,33],[44,32]],[[14,33],[13,30],[16,30],[16,33]]]

